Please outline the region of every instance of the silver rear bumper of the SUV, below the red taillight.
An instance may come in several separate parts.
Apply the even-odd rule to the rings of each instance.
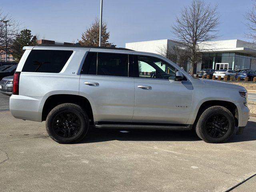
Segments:
[[[10,112],[17,119],[42,122],[40,99],[22,95],[10,97]]]

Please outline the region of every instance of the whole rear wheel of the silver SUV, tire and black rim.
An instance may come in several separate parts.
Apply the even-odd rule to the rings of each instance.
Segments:
[[[88,129],[88,115],[76,104],[60,104],[46,118],[46,130],[52,140],[58,143],[77,143],[84,138]]]

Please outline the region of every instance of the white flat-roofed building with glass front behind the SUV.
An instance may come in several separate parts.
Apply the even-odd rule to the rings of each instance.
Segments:
[[[256,44],[234,39],[204,42],[198,46],[202,59],[194,66],[194,74],[203,68],[256,70]],[[184,46],[182,47],[182,44],[177,41],[165,39],[126,43],[126,48],[160,54],[162,50],[168,50],[168,48],[182,50]],[[186,62],[182,67],[190,72],[190,62]]]

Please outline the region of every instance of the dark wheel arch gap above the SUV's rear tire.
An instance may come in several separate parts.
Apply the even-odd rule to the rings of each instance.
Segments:
[[[94,123],[92,106],[89,100],[83,96],[73,94],[54,94],[49,96],[44,102],[42,110],[42,121],[46,120],[49,112],[56,106],[63,103],[73,103],[81,106],[88,114],[90,123]]]

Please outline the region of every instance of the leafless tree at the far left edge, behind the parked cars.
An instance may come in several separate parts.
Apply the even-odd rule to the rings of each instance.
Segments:
[[[7,53],[9,46],[19,32],[20,24],[9,14],[0,10],[0,54]]]

